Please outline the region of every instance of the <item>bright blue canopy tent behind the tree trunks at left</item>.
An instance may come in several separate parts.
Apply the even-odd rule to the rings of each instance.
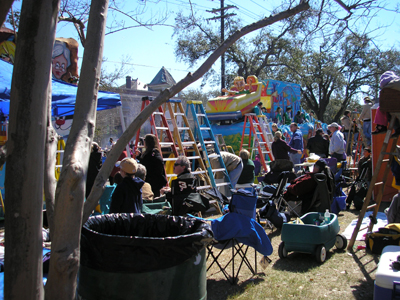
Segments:
[[[5,115],[10,112],[10,92],[13,65],[0,59],[0,109]],[[52,83],[52,112],[54,117],[74,114],[78,87],[60,80]],[[116,93],[100,92],[97,98],[97,110],[121,106],[121,97]]]

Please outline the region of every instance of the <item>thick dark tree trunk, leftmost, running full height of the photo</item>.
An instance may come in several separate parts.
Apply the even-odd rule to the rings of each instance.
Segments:
[[[11,85],[5,180],[5,299],[43,299],[47,101],[59,1],[25,0]]]

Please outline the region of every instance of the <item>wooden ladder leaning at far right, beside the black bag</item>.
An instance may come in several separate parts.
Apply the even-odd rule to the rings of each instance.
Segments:
[[[391,135],[392,135],[392,129],[394,128],[394,124],[395,124],[396,119],[400,120],[400,113],[391,113],[391,116],[392,116],[392,118],[390,120],[390,124],[389,124],[388,130],[386,131],[386,136],[385,136],[385,139],[384,139],[383,144],[382,144],[381,152],[379,154],[378,161],[377,161],[376,167],[374,169],[374,173],[373,173],[373,176],[372,176],[372,179],[371,179],[371,183],[370,183],[369,188],[368,188],[367,195],[365,196],[364,204],[363,204],[363,206],[361,208],[360,214],[358,216],[356,227],[354,228],[353,235],[351,236],[349,245],[347,247],[347,250],[349,250],[349,251],[351,251],[353,249],[353,246],[354,246],[354,243],[356,241],[358,232],[360,230],[365,229],[365,228],[360,229],[361,223],[362,223],[363,218],[365,216],[365,212],[368,209],[372,209],[372,208],[374,209],[374,211],[372,213],[371,220],[376,220],[376,216],[378,214],[379,206],[381,204],[382,197],[383,197],[383,192],[384,192],[385,185],[386,185],[386,180],[387,180],[387,177],[388,177],[388,174],[389,174],[389,171],[390,171],[390,165],[391,165],[393,156],[396,154],[394,151],[396,149],[397,141],[399,139],[398,137],[392,138]],[[392,140],[392,144],[389,147],[389,141],[390,140]],[[388,148],[390,148],[389,152],[387,152]],[[385,156],[387,156],[388,158],[385,158]],[[380,171],[383,163],[386,163],[386,166],[385,166],[385,169],[384,169],[382,182],[377,182],[378,176],[379,176],[379,171]],[[372,193],[374,191],[374,187],[375,186],[379,186],[378,195],[377,195],[377,197],[375,199],[375,204],[369,205],[369,202],[371,200]],[[374,226],[374,222],[371,221],[370,224],[367,227],[368,231],[371,231],[373,226]]]

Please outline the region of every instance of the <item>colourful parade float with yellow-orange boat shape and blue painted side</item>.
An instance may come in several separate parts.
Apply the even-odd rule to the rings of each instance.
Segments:
[[[238,76],[229,90],[222,91],[227,94],[210,99],[206,105],[206,113],[212,122],[214,134],[221,134],[225,143],[232,146],[235,152],[240,149],[243,117],[247,113],[254,112],[259,102],[267,109],[264,114],[270,123],[276,118],[278,107],[283,113],[291,107],[292,119],[294,114],[301,110],[300,85],[295,83],[272,79],[259,81],[254,75],[247,77],[245,81],[243,77]],[[289,126],[279,125],[279,127],[283,135],[290,138]],[[322,127],[326,131],[324,128],[326,124],[322,124]],[[314,123],[300,124],[300,130],[307,139],[314,130]],[[248,133],[248,128],[246,128],[246,133]]]

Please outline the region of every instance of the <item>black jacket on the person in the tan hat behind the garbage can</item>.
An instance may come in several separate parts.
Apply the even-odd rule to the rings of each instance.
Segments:
[[[137,177],[124,177],[117,185],[111,198],[110,213],[142,212],[142,186],[144,181]]]

